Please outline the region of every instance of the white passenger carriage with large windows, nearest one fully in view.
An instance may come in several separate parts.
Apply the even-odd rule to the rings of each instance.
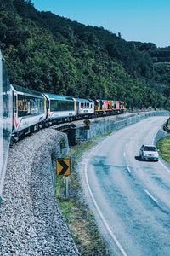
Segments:
[[[13,139],[42,128],[47,116],[46,98],[42,93],[12,84],[14,97]]]

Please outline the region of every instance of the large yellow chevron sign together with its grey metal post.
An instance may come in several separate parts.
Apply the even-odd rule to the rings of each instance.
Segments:
[[[56,160],[56,175],[65,176],[65,195],[66,199],[69,198],[69,180],[71,175],[71,159],[70,158],[58,158]]]

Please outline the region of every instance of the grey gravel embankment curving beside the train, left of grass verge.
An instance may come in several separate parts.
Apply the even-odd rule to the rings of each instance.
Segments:
[[[9,150],[0,255],[79,255],[54,195],[52,158],[60,156],[60,141],[64,134],[45,129]]]

